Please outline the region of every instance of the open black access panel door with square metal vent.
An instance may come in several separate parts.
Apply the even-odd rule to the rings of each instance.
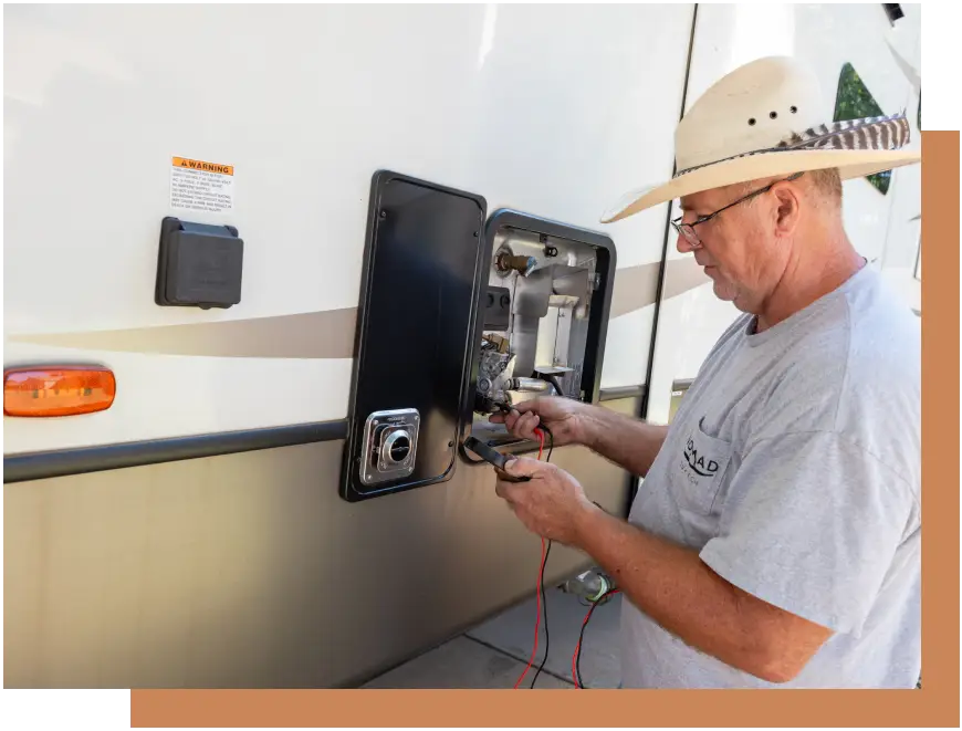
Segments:
[[[487,201],[380,170],[368,209],[341,497],[453,476],[487,288]]]

